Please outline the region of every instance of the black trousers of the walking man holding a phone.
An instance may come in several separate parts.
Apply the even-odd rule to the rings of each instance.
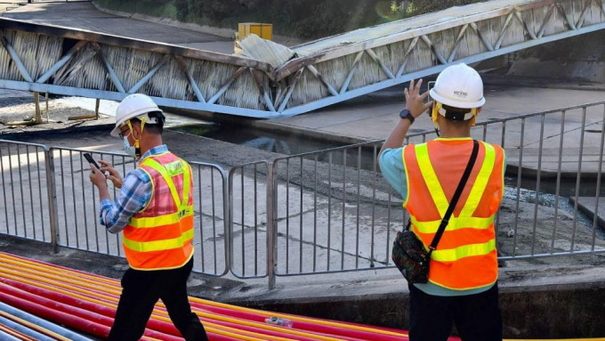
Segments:
[[[161,298],[174,327],[179,329],[182,337],[188,341],[206,341],[206,330],[198,315],[191,313],[187,296],[187,279],[192,268],[193,259],[172,270],[126,270],[109,340],[135,341],[141,338],[153,306]]]

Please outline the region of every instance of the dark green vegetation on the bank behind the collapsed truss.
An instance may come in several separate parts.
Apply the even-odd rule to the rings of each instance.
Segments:
[[[318,38],[479,0],[95,0],[110,10],[220,28],[270,22],[278,35]]]

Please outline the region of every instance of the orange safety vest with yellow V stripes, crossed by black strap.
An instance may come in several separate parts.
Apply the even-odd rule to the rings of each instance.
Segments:
[[[436,139],[403,148],[412,231],[428,250],[472,151],[471,138]],[[466,290],[496,282],[494,215],[504,194],[504,150],[480,142],[477,161],[437,249],[429,281]]]

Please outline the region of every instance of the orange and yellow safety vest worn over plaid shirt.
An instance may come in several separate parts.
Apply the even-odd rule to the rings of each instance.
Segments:
[[[139,167],[149,175],[153,194],[124,229],[126,260],[137,270],[179,268],[193,256],[190,165],[166,151],[143,159]]]

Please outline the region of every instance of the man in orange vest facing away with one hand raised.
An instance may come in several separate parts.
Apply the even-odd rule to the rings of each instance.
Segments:
[[[423,80],[404,90],[406,108],[383,144],[378,162],[399,191],[411,231],[428,249],[472,154],[471,127],[485,98],[479,73],[465,64],[441,71],[430,92]],[[432,101],[424,101],[429,94]],[[440,137],[402,147],[425,111]],[[447,340],[456,325],[464,341],[502,339],[494,216],[504,192],[504,150],[479,142],[464,191],[431,254],[427,283],[409,284],[410,340]]]

